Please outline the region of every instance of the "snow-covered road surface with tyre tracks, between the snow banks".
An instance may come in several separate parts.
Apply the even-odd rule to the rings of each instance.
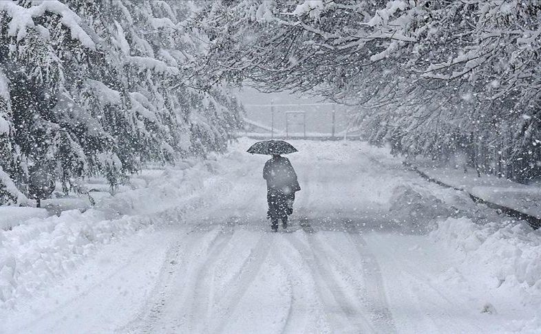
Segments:
[[[293,142],[302,190],[290,227],[272,233],[266,157],[243,153],[251,143],[241,140],[208,164],[213,176],[189,201],[149,203],[155,227],[100,247],[58,284],[3,311],[0,332],[513,330],[512,302],[487,296],[482,279],[453,276],[457,259],[390,212],[396,187],[443,197],[454,190],[362,143]],[[497,314],[482,312],[489,297]]]

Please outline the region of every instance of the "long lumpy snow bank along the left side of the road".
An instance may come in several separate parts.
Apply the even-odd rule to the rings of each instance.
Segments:
[[[0,223],[6,221],[12,229],[0,230],[0,307],[17,307],[18,298],[54,285],[100,245],[150,232],[160,224],[182,223],[229,190],[215,186],[222,182],[219,174],[215,161],[185,160],[146,188],[104,198],[85,212],[67,210],[46,217],[41,210],[1,208],[10,216]]]

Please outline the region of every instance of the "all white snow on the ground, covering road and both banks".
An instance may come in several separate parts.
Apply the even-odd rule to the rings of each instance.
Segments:
[[[302,190],[273,234],[252,143],[2,231],[3,332],[541,330],[539,232],[383,148],[293,141]]]

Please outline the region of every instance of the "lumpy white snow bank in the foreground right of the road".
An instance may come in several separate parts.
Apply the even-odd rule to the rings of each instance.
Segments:
[[[448,218],[429,234],[452,249],[458,271],[489,282],[487,296],[500,296],[500,304],[537,310],[531,322],[516,324],[518,331],[534,333],[541,326],[541,232],[526,222],[507,221],[478,225],[467,218]],[[488,277],[487,277],[488,276]],[[497,307],[498,308],[498,307]]]

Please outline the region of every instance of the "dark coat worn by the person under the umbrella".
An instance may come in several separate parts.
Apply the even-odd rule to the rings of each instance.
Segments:
[[[267,181],[269,191],[290,194],[301,190],[297,173],[286,157],[278,156],[269,159],[263,168],[263,178]]]

